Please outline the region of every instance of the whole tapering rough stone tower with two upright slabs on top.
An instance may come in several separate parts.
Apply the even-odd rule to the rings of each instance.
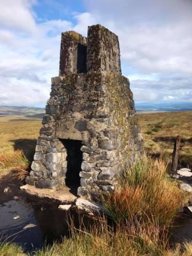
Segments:
[[[143,153],[117,35],[101,25],[88,27],[87,38],[62,33],[59,77],[51,82],[26,182],[41,189],[69,186],[96,200]]]

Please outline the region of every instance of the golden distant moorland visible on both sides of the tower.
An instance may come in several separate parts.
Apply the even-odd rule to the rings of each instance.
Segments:
[[[182,166],[192,166],[192,111],[138,114],[145,149],[154,156],[171,161],[175,137],[182,137]],[[34,153],[41,117],[9,115],[0,117],[1,154],[23,150]]]

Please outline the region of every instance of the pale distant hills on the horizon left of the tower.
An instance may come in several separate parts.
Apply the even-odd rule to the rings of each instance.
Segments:
[[[7,115],[22,115],[28,118],[42,118],[45,109],[41,107],[25,107],[25,106],[0,106],[0,117]]]

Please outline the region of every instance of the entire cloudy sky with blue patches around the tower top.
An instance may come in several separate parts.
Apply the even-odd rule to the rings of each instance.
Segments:
[[[119,37],[135,102],[192,103],[192,0],[0,0],[0,105],[44,107],[61,33]]]

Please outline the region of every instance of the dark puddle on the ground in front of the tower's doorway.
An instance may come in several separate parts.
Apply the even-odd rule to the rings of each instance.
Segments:
[[[29,198],[1,203],[0,216],[2,241],[19,243],[26,252],[39,249],[45,243],[59,241],[63,236],[69,237],[68,223],[71,219],[77,228],[82,225],[82,218],[85,226],[93,223],[92,219],[74,210],[58,210],[58,205],[31,201]]]

